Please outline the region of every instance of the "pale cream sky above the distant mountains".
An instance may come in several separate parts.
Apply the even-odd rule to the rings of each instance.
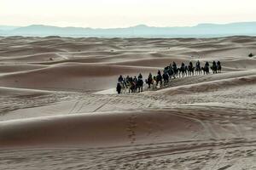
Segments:
[[[195,26],[256,21],[256,0],[0,0],[0,25]]]

